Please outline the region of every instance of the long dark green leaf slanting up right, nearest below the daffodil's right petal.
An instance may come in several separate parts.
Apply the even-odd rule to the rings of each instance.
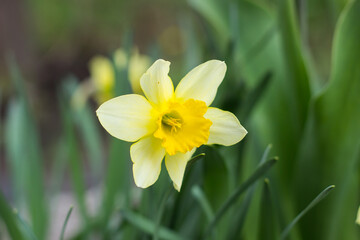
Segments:
[[[221,206],[221,208],[216,212],[214,218],[211,220],[210,224],[206,228],[204,237],[207,237],[215,228],[216,224],[224,216],[224,214],[233,206],[237,199],[244,193],[250,186],[252,186],[260,177],[262,177],[275,163],[277,158],[273,158],[263,164],[261,164],[255,172],[244,182],[242,183],[231,195],[228,197],[226,202]]]

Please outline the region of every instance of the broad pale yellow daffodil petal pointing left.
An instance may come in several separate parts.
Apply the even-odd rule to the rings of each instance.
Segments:
[[[128,94],[103,103],[96,114],[112,136],[134,142],[156,130],[152,109],[143,96]]]

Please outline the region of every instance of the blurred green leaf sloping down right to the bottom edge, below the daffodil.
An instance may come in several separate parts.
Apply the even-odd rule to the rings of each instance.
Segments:
[[[133,224],[138,229],[147,232],[149,234],[154,234],[155,232],[155,223],[137,213],[134,213],[130,210],[122,210],[121,215],[125,220]],[[160,226],[159,227],[159,237],[161,239],[168,240],[183,240],[185,238],[179,236],[176,232],[173,232],[170,229]]]

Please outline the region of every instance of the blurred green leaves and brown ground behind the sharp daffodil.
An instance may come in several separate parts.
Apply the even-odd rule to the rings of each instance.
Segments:
[[[355,0],[2,0],[0,239],[359,239],[359,18]],[[101,90],[74,104],[97,55],[131,93],[134,49],[175,84],[224,60],[213,106],[249,132],[200,148],[180,193],[164,167],[134,186]]]

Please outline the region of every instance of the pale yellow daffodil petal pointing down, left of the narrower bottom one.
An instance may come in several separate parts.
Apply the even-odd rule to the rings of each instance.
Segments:
[[[152,135],[131,145],[130,156],[134,163],[133,174],[136,186],[147,188],[156,182],[164,155],[165,149],[161,146],[161,141]]]

